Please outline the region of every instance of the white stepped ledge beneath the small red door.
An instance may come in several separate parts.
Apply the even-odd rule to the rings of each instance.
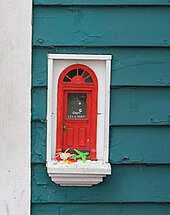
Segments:
[[[92,186],[103,181],[111,174],[109,163],[90,161],[65,164],[57,161],[47,163],[51,180],[60,186]]]

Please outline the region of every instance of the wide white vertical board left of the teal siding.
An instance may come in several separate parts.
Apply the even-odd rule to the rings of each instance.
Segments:
[[[30,0],[0,1],[0,214],[30,214]]]

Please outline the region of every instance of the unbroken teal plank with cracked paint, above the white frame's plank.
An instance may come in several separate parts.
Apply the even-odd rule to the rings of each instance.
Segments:
[[[169,7],[35,7],[36,46],[170,46]]]

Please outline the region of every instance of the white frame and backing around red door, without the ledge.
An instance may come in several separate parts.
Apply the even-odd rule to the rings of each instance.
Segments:
[[[59,76],[66,67],[72,64],[85,64],[95,72],[98,79],[97,160],[101,161],[102,164],[107,163],[109,153],[111,55],[49,54],[48,59],[47,162],[51,164],[56,151],[57,86]],[[47,164],[47,168],[49,174],[52,173],[52,167]],[[55,168],[55,171],[58,170]],[[86,169],[86,171],[88,170]],[[68,173],[68,169],[66,169],[65,173]],[[109,173],[110,170],[108,171]],[[105,172],[104,175],[106,174]]]

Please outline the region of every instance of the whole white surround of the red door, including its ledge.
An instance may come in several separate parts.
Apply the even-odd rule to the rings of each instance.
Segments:
[[[48,55],[47,172],[56,184],[92,186],[111,174],[111,166],[108,163],[111,59],[111,55]],[[57,135],[57,86],[62,71],[72,64],[90,67],[98,79],[97,160],[66,165],[53,160]]]

